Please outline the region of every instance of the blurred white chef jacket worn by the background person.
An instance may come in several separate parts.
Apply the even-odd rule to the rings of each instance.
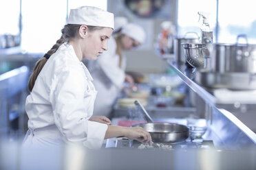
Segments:
[[[104,51],[97,60],[90,60],[88,69],[94,78],[94,86],[98,91],[94,103],[94,115],[109,117],[116,97],[125,82],[126,58],[122,54],[121,67],[120,57],[116,54],[116,40],[109,39],[109,49]]]

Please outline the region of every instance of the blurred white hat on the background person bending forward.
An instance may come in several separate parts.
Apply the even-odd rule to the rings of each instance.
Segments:
[[[121,30],[122,34],[125,34],[134,40],[137,40],[140,43],[143,43],[146,38],[146,33],[140,25],[129,23],[127,25],[124,25]]]

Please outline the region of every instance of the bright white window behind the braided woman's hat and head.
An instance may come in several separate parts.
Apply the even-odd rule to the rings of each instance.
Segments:
[[[107,0],[22,0],[21,48],[30,53],[46,53],[61,37],[67,11],[83,5],[107,10]]]

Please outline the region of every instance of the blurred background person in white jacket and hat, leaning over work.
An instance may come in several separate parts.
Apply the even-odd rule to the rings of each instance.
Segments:
[[[123,25],[113,38],[109,39],[109,50],[96,61],[88,62],[88,69],[94,77],[98,96],[94,104],[95,115],[111,118],[111,111],[122,90],[124,82],[134,86],[134,78],[125,73],[126,58],[124,51],[133,50],[145,40],[145,31],[139,25]]]

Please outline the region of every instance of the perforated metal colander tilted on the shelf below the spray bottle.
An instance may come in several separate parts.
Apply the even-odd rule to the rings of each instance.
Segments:
[[[186,62],[195,68],[204,68],[204,57],[209,56],[205,44],[182,43]]]

